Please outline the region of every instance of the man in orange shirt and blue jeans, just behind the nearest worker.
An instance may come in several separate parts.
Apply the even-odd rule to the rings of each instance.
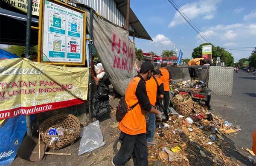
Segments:
[[[154,76],[146,81],[146,90],[148,94],[148,99],[152,106],[156,105],[156,102],[159,98],[163,99],[164,90],[163,82],[160,80],[160,77],[163,76],[159,69],[155,70]],[[148,115],[148,130],[147,130],[147,143],[148,145],[156,144],[154,141],[154,132],[156,130],[156,115],[153,113],[147,113]]]

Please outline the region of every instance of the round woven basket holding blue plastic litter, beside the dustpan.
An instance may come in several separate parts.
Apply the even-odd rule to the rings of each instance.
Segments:
[[[62,127],[66,129],[66,132],[64,135],[61,136],[47,135],[47,132],[52,127]],[[42,140],[44,141],[44,143],[48,145],[48,147],[52,149],[61,149],[62,147],[73,143],[76,140],[76,138],[79,137],[80,121],[78,118],[76,118],[76,116],[72,114],[54,115],[50,118],[47,118],[45,121],[43,121],[43,123],[40,124],[39,132],[42,136]],[[54,141],[50,145],[52,137],[58,137],[59,141]]]

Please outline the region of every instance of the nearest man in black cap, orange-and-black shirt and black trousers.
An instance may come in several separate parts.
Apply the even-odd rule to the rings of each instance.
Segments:
[[[135,166],[148,166],[148,146],[146,138],[147,112],[154,113],[161,120],[162,114],[151,104],[147,96],[145,81],[150,79],[154,66],[149,62],[143,62],[140,74],[134,77],[125,91],[125,102],[129,110],[119,122],[122,141],[118,153],[112,160],[115,166],[127,163],[133,155]],[[135,106],[135,107],[134,107]]]

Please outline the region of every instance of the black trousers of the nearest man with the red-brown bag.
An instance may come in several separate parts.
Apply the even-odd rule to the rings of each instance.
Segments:
[[[124,132],[120,133],[122,141],[118,153],[113,158],[116,166],[123,166],[127,163],[131,156],[134,166],[148,166],[148,145],[146,134],[128,135]]]

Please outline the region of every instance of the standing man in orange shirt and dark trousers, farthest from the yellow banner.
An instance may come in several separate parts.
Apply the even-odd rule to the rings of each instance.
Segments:
[[[168,115],[168,109],[169,109],[169,102],[170,102],[170,96],[169,96],[169,91],[170,91],[170,82],[172,82],[172,74],[170,73],[169,70],[167,70],[167,63],[162,63],[161,68],[161,73],[163,76],[160,77],[161,81],[163,82],[163,89],[164,89],[164,99],[163,99],[163,104],[164,104],[164,114],[166,115],[166,119],[169,119]]]

